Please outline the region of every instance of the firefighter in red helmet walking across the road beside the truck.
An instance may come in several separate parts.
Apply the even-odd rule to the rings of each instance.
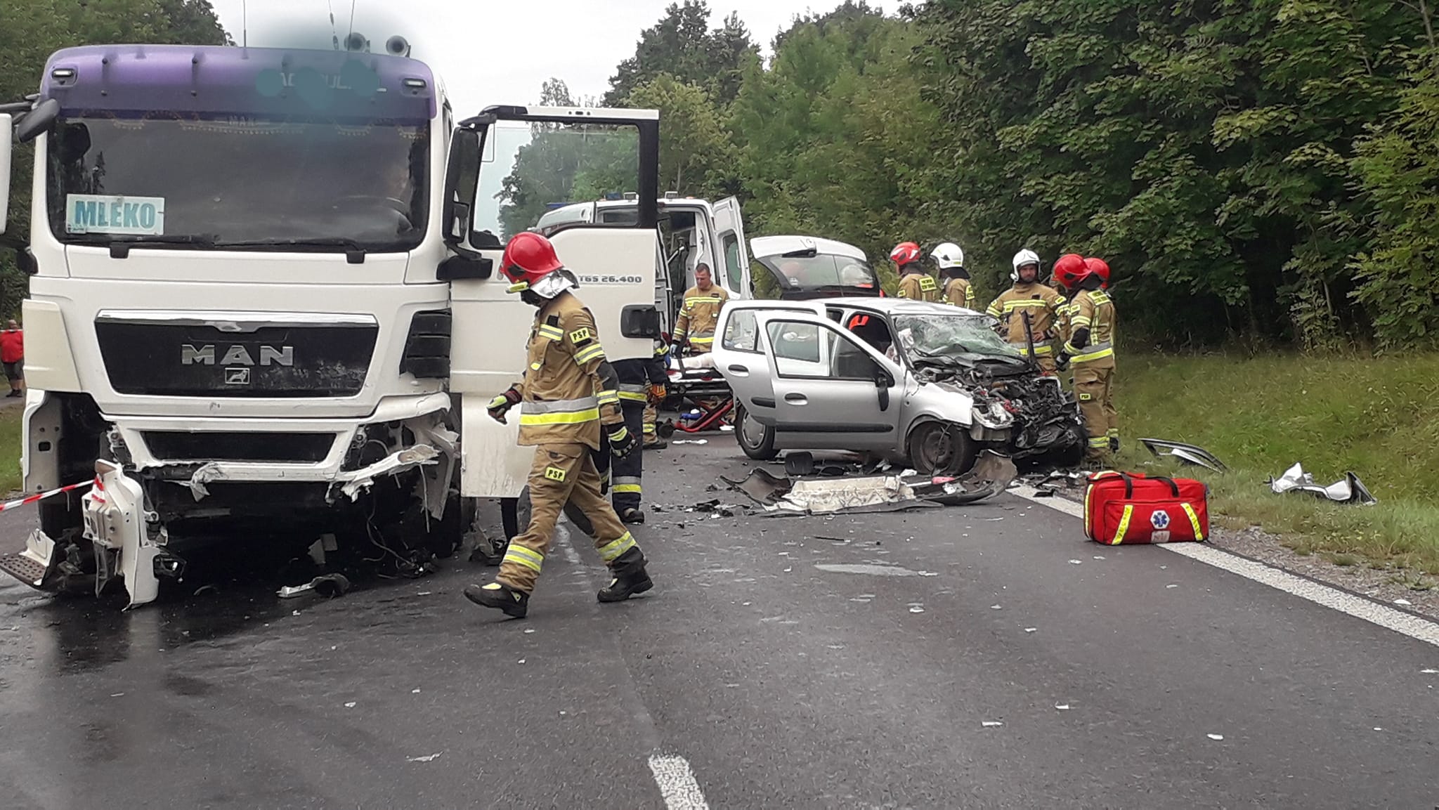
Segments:
[[[502,272],[509,291],[538,306],[525,347],[525,376],[489,403],[489,416],[505,422],[519,406],[519,445],[534,446],[530,468],[530,527],[509,541],[495,581],[469,586],[465,597],[508,616],[530,610],[550,535],[566,501],[573,501],[594,527],[594,548],[610,568],[610,584],[600,601],[623,601],[653,587],[645,571],[645,554],[600,495],[600,475],[593,450],[600,430],[610,452],[623,458],[639,439],[625,427],[619,378],[604,358],[594,317],[570,291],[580,286],[560,265],[554,246],[538,233],[518,233],[505,247]]]

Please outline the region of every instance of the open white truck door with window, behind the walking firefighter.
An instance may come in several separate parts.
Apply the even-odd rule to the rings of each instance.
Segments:
[[[450,285],[450,393],[460,400],[460,493],[509,498],[530,472],[530,447],[509,424],[489,419],[492,397],[524,376],[535,309],[507,292],[505,242],[555,207],[636,194],[639,216],[548,229],[576,295],[594,314],[604,354],[653,355],[659,335],[659,112],[557,106],[491,106],[462,121],[450,144],[445,242],[453,256],[439,278]]]

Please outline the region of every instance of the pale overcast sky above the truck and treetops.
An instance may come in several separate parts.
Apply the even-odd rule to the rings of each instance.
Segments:
[[[249,45],[330,47],[330,10],[341,37],[350,29],[350,0],[212,0],[226,30],[240,43],[248,16]],[[655,24],[669,0],[357,0],[354,30],[371,50],[401,35],[416,59],[446,82],[459,118],[494,104],[534,104],[550,76],[576,96],[599,96],[614,65],[633,56],[640,30]],[[770,40],[796,14],[829,10],[839,0],[711,0],[711,27],[738,12],[751,36]]]

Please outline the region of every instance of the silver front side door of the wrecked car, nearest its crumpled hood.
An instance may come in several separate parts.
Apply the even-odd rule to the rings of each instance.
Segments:
[[[904,378],[896,364],[819,315],[768,309],[757,319],[776,447],[894,447]]]

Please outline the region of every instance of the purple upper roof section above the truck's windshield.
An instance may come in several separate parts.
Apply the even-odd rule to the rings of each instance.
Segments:
[[[56,73],[59,70],[59,73]],[[68,72],[71,70],[71,72]],[[414,59],[342,50],[91,45],[56,50],[40,98],[69,114],[430,119],[435,76]]]

